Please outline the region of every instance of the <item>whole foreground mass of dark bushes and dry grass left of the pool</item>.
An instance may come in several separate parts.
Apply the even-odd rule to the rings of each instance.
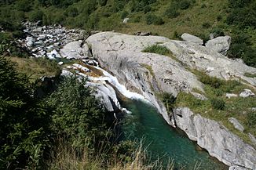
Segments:
[[[51,65],[48,60],[13,58]],[[21,62],[21,63],[20,63]],[[86,80],[60,78],[53,92],[38,85],[0,56],[0,169],[157,169],[136,142],[120,141],[117,124],[95,98]],[[39,68],[41,69],[41,68]],[[45,71],[45,70],[42,70]],[[47,72],[47,71],[46,71]],[[54,72],[54,71],[53,71]],[[170,162],[167,169],[174,169]]]

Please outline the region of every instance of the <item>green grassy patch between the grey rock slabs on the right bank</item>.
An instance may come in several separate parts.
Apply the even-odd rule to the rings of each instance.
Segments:
[[[205,118],[210,118],[215,121],[221,122],[231,132],[240,136],[246,143],[251,143],[251,139],[247,136],[250,132],[256,136],[256,128],[248,123],[248,115],[251,114],[251,108],[256,107],[255,97],[233,97],[228,99],[225,97],[226,93],[240,94],[243,89],[254,89],[247,85],[243,85],[238,81],[223,81],[218,78],[210,78],[209,76],[201,73],[197,74],[200,81],[204,82],[204,95],[208,100],[196,99],[192,94],[180,92],[177,96],[175,107],[189,107],[195,114],[201,114]],[[214,102],[213,102],[214,100]],[[217,103],[217,105],[215,105]],[[245,128],[244,132],[240,132],[229,122],[228,118],[236,118],[240,124]]]

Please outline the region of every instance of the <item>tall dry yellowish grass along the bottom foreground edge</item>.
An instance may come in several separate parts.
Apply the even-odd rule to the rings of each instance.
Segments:
[[[65,143],[58,143],[57,147],[52,150],[51,160],[46,162],[46,166],[49,170],[130,170],[130,169],[166,169],[174,170],[174,161],[163,168],[162,163],[157,160],[150,162],[147,151],[143,149],[142,145],[133,150],[130,161],[123,160],[123,158],[117,157],[113,154],[110,158],[106,159],[104,153],[93,154],[90,150],[82,148],[75,150],[73,146],[68,146]],[[195,170],[199,167],[195,165]]]

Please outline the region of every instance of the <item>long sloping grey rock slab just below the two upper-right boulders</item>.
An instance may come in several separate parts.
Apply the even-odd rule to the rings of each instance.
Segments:
[[[203,71],[210,76],[230,80],[242,79],[256,85],[256,78],[248,78],[244,74],[256,74],[256,68],[249,67],[238,60],[231,60],[212,49],[195,43],[170,40],[164,43],[181,63],[190,69]]]

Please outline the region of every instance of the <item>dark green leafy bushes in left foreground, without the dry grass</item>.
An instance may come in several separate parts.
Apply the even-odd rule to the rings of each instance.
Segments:
[[[1,169],[46,168],[58,139],[78,157],[80,148],[93,155],[101,149],[98,146],[107,148],[101,150],[104,159],[112,153],[129,154],[128,146],[115,142],[111,115],[84,87],[84,80],[63,78],[55,92],[38,98],[36,86],[1,56],[0,82]]]

